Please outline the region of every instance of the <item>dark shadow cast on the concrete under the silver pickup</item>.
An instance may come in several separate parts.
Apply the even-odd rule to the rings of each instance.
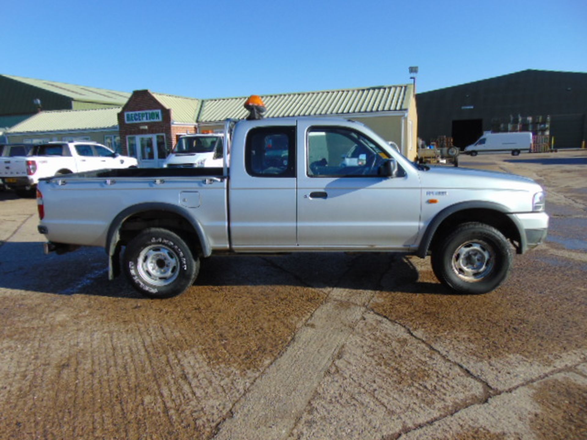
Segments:
[[[95,295],[141,299],[121,272],[110,281],[102,248],[64,255],[43,254],[40,242],[0,245],[0,288],[56,295]],[[385,276],[394,280],[380,285]],[[295,253],[285,256],[214,256],[202,262],[197,289],[222,286],[292,286],[451,295],[419,274],[403,256],[391,253]]]

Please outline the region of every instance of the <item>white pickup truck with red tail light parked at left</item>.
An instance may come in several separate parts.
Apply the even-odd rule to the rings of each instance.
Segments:
[[[0,178],[21,197],[35,195],[40,178],[101,170],[136,167],[137,160],[92,142],[50,142],[34,145],[26,156],[2,158]]]

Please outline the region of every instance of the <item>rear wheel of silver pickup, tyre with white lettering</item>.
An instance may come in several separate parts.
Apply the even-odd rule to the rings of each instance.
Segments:
[[[124,252],[124,273],[131,285],[151,298],[179,295],[193,285],[200,260],[176,233],[145,229]]]

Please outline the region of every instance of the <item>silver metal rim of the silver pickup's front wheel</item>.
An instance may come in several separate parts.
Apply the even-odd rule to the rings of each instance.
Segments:
[[[494,263],[494,250],[480,240],[465,242],[453,253],[454,273],[467,282],[483,280],[491,273]]]

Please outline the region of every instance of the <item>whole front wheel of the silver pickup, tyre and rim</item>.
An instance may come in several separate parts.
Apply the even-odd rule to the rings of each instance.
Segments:
[[[432,251],[434,275],[458,293],[487,293],[509,273],[510,243],[500,231],[483,223],[465,223]]]

